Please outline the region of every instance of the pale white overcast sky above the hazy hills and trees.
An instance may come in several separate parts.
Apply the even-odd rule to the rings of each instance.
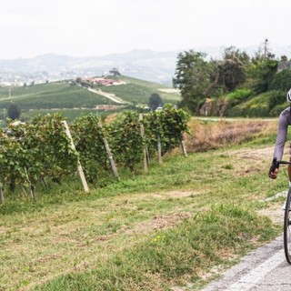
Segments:
[[[0,0],[0,59],[289,46],[290,0]]]

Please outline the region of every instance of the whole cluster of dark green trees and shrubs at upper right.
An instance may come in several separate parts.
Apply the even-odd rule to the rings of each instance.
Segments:
[[[199,115],[207,99],[216,103],[217,115],[227,115],[232,106],[270,92],[267,106],[271,110],[284,103],[290,84],[288,58],[272,54],[267,39],[254,56],[236,46],[227,47],[221,60],[209,59],[192,49],[181,52],[173,78],[174,87],[181,91],[180,106],[194,115]],[[227,95],[232,97],[226,98]]]

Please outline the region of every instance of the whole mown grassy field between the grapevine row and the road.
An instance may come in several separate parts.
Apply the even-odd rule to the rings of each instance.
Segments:
[[[38,186],[36,203],[5,191],[0,290],[198,290],[212,267],[235,264],[281,230],[256,211],[286,176],[268,179],[270,157],[253,159],[256,148],[152,160],[146,175],[100,177],[90,195],[77,177]]]

